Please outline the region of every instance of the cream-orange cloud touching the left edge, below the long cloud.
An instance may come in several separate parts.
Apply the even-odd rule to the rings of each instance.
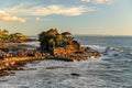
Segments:
[[[0,21],[8,21],[8,22],[25,22],[25,19],[18,18],[15,15],[11,15],[2,10],[0,10]]]

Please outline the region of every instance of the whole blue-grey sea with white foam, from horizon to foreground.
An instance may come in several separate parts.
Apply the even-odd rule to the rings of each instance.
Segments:
[[[28,64],[28,70],[14,70],[15,76],[0,77],[0,88],[132,88],[131,36],[74,37],[81,46],[100,51],[102,56],[77,63],[46,59]],[[28,44],[38,46],[35,42]],[[72,73],[80,76],[72,76]]]

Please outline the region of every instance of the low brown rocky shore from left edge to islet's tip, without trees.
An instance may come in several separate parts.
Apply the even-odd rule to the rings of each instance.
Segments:
[[[4,43],[0,45],[0,50],[4,51],[4,55],[7,55],[12,51],[12,53],[10,53],[8,56],[4,56],[4,58],[0,59],[0,76],[13,76],[15,75],[15,73],[13,73],[12,70],[24,70],[24,66],[28,63],[32,63],[34,61],[55,59],[55,61],[65,61],[65,62],[80,62],[91,58],[98,58],[100,56],[100,53],[94,50],[89,50],[86,53],[87,55],[78,53],[78,54],[69,54],[67,56],[64,55],[58,56],[58,55],[52,55],[50,53],[41,53],[36,50],[25,51],[25,48],[28,47],[30,46],[23,44],[18,45],[18,44]],[[21,50],[21,52],[18,53],[16,52],[18,50]],[[23,50],[24,53],[22,52]],[[15,55],[13,55],[13,53]],[[25,55],[25,53],[28,54]]]

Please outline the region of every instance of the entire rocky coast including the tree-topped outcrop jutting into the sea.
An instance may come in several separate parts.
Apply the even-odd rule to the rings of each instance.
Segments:
[[[23,42],[40,42],[40,47],[23,44]],[[58,33],[57,29],[43,31],[38,40],[30,38],[22,33],[9,34],[0,30],[0,75],[9,76],[9,70],[23,70],[26,63],[34,61],[55,59],[79,62],[98,58],[101,53],[91,47],[82,47],[72,33]]]

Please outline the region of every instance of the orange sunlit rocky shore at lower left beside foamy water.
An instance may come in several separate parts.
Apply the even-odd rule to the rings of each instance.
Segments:
[[[11,70],[24,70],[24,66],[28,63],[32,63],[35,61],[43,61],[44,58],[36,57],[12,57],[4,58],[4,61],[0,61],[0,76],[12,76],[14,73]]]

